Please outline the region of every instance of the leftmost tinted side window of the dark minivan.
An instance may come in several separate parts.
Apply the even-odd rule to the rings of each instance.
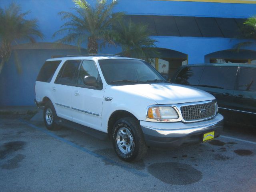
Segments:
[[[204,66],[186,67],[175,78],[175,83],[198,86]]]

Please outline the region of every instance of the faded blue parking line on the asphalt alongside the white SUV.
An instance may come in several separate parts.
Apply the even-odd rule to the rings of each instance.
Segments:
[[[48,131],[48,130],[42,129],[42,128],[38,127],[38,126],[35,126],[35,125],[33,125],[33,124],[31,124],[31,123],[25,121],[25,120],[22,120],[22,119],[19,119],[19,120],[20,120],[21,122],[23,122],[24,124],[26,124],[26,125],[32,127],[32,128],[35,128],[35,129],[37,129],[37,130],[39,130],[39,131],[41,131],[41,132],[44,132],[44,133],[48,134],[49,136],[52,136],[53,138],[56,138],[56,139],[58,139],[58,140],[60,140],[60,141],[62,141],[62,142],[64,142],[64,143],[66,143],[66,144],[68,144],[68,145],[70,145],[70,146],[72,146],[72,147],[75,147],[75,148],[77,148],[77,149],[79,149],[79,150],[81,150],[81,151],[83,151],[83,152],[86,152],[87,154],[90,154],[90,155],[92,155],[92,156],[94,156],[94,157],[100,158],[100,159],[102,159],[102,160],[104,160],[104,161],[106,161],[106,162],[108,162],[108,163],[110,163],[110,164],[112,164],[112,165],[116,165],[116,166],[118,166],[118,167],[120,167],[120,168],[122,168],[122,169],[124,169],[124,170],[126,170],[126,171],[129,171],[129,172],[131,172],[131,173],[133,173],[133,174],[136,174],[136,175],[138,175],[138,176],[142,176],[142,177],[147,177],[147,176],[148,176],[148,174],[145,174],[144,172],[141,172],[141,171],[138,171],[138,170],[136,170],[136,169],[130,168],[130,167],[125,166],[125,165],[123,165],[123,164],[121,164],[121,163],[119,163],[119,162],[116,162],[116,161],[112,160],[112,159],[106,158],[105,156],[102,156],[102,155],[100,155],[100,154],[97,154],[97,153],[95,153],[95,152],[93,152],[93,151],[91,151],[91,150],[88,150],[88,149],[86,149],[86,148],[83,148],[83,147],[81,147],[81,146],[79,146],[79,145],[77,145],[77,144],[74,144],[74,143],[70,142],[69,140],[66,140],[66,139],[64,139],[64,138],[62,138],[62,137],[59,137],[59,136],[57,136],[56,134],[54,134],[54,133],[52,133],[52,132],[50,132],[50,131]]]

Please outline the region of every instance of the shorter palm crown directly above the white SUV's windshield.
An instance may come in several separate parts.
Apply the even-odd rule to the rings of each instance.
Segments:
[[[153,58],[159,57],[159,52],[155,48],[157,41],[150,38],[147,25],[122,20],[115,28],[115,42],[121,46],[123,56],[142,58],[150,63],[154,62]]]

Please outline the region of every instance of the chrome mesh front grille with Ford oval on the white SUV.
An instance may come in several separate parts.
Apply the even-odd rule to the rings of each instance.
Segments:
[[[180,107],[181,114],[184,120],[200,120],[210,118],[215,115],[216,104],[215,102],[188,105]]]

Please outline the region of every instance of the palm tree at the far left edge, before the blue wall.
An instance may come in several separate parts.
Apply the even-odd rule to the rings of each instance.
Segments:
[[[24,18],[29,13],[30,11],[22,13],[21,7],[15,3],[11,3],[4,10],[0,8],[0,73],[4,63],[8,62],[11,56],[12,44],[26,40],[34,43],[36,37],[43,38],[43,34],[38,30],[38,21]],[[14,51],[14,56],[18,72],[21,72],[16,51]]]

